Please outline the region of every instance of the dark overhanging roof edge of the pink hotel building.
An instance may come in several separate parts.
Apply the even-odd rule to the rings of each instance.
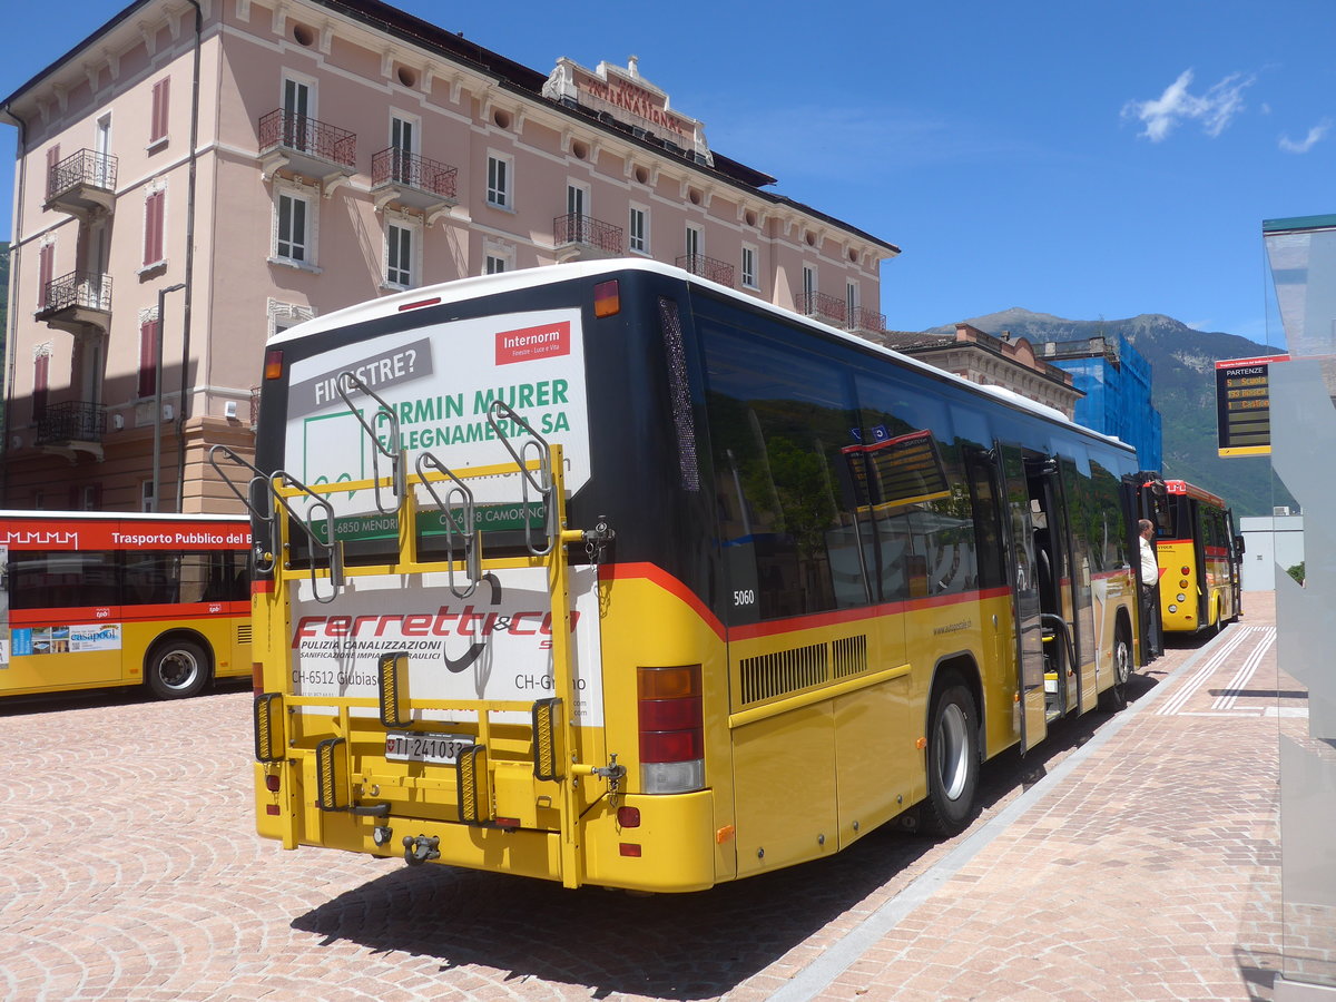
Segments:
[[[158,0],[135,0],[120,13],[115,15],[111,20],[98,28],[92,35],[80,41],[77,45],[71,48],[65,55],[60,56],[57,60],[51,63],[45,69],[36,73],[32,79],[24,83],[21,87],[13,91],[8,98],[0,102],[0,118],[11,118],[8,114],[9,106],[17,100],[27,91],[32,90],[41,83],[43,79],[49,76],[52,72],[71,61],[79,52],[91,48],[95,43],[114,31],[119,24],[132,17],[142,8],[156,3]],[[648,138],[637,136],[632,132],[629,126],[621,124],[619,122],[609,122],[605,118],[600,118],[597,114],[580,108],[570,107],[568,104],[558,104],[549,100],[542,95],[542,86],[548,81],[548,75],[537,69],[524,65],[522,63],[516,63],[513,59],[508,59],[489,48],[484,48],[476,41],[470,41],[464,37],[464,32],[449,32],[430,21],[425,21],[421,17],[415,17],[405,11],[391,7],[390,4],[381,3],[381,0],[307,0],[309,3],[325,7],[335,13],[341,13],[354,21],[361,21],[377,31],[382,31],[386,35],[395,37],[411,45],[418,45],[429,52],[438,56],[444,56],[457,63],[464,63],[474,69],[488,73],[497,79],[497,83],[504,88],[509,90],[528,100],[542,102],[544,104],[564,112],[566,115],[573,115],[589,128],[597,128],[601,131],[616,132],[624,142],[644,146],[653,150],[657,154],[673,155],[671,147],[665,147],[660,142],[655,142]],[[721,180],[725,180],[733,186],[744,187],[752,191],[755,195],[780,206],[791,206],[792,208],[815,216],[823,222],[838,226],[847,232],[856,234],[862,239],[875,243],[879,247],[884,247],[891,251],[892,255],[899,254],[900,248],[894,243],[874,236],[866,230],[860,230],[856,226],[846,223],[842,219],[836,219],[832,215],[822,212],[812,206],[804,204],[795,199],[778,192],[762,191],[762,187],[767,184],[775,184],[776,179],[771,175],[759,171],[754,167],[748,167],[737,160],[724,156],[719,152],[712,151],[713,166],[700,163],[692,158],[691,151],[687,151],[683,156],[681,151],[676,155],[685,160],[685,163],[703,174],[713,175]]]

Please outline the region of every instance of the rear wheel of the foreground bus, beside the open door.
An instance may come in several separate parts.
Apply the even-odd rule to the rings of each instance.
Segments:
[[[927,799],[922,826],[957,835],[974,820],[979,786],[979,721],[974,696],[951,675],[933,699],[927,737]]]

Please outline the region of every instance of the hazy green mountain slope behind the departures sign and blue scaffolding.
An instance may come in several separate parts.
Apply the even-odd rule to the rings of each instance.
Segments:
[[[1186,480],[1220,494],[1234,517],[1271,514],[1273,505],[1293,500],[1279,481],[1273,484],[1271,458],[1240,456],[1221,458],[1216,438],[1216,361],[1273,355],[1284,349],[1259,345],[1237,334],[1193,330],[1186,323],[1157,313],[1122,321],[1069,321],[1019,307],[975,317],[966,323],[1011,337],[1038,341],[1085,341],[1121,334],[1150,363],[1152,401],[1164,418],[1164,476]],[[955,325],[933,327],[933,334],[954,334]]]

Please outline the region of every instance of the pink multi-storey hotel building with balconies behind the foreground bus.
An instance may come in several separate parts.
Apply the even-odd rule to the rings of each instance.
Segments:
[[[884,240],[767,188],[628,65],[522,67],[374,0],[140,0],[19,130],[3,502],[224,512],[265,342],[386,291],[677,263],[864,334]]]

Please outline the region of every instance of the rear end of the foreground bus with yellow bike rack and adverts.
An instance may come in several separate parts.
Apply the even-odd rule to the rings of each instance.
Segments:
[[[624,371],[649,319],[631,301],[653,299],[625,278],[524,282],[418,290],[273,345],[258,831],[568,887],[708,887],[736,864],[705,775],[712,748],[728,762],[727,715],[707,712],[727,705],[723,631],[683,584],[707,564],[683,506],[704,501],[640,426],[663,424],[643,398],[664,365],[605,381],[621,422],[591,417],[587,378],[595,343],[591,371]]]

